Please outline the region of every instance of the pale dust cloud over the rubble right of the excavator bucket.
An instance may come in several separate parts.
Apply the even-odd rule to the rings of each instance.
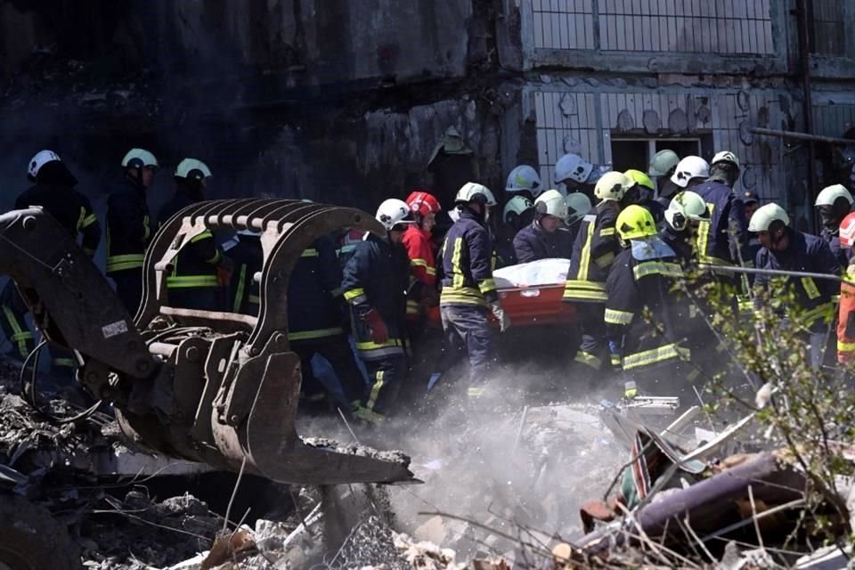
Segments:
[[[477,403],[467,402],[462,379],[443,379],[434,397],[401,403],[387,424],[351,425],[360,444],[407,453],[411,471],[424,481],[389,489],[396,530],[469,555],[484,551],[485,541],[500,552],[516,545],[494,542],[477,525],[451,519],[425,525],[431,517],[419,513],[463,517],[511,535],[525,527],[542,533],[543,540],[582,533],[582,503],[601,498],[629,457],[597,415],[599,399],[614,400],[618,390],[588,390],[585,384],[586,379],[568,379],[566,368],[506,366]],[[301,424],[303,436],[353,441],[341,420]]]

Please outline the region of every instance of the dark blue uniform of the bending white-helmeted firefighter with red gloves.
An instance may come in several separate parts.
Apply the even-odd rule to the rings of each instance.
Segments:
[[[351,307],[356,349],[368,369],[371,386],[362,397],[369,411],[387,413],[406,373],[403,322],[410,259],[403,247],[369,234],[356,244],[347,261],[341,289]],[[388,330],[384,343],[375,343],[371,327],[363,320],[371,310],[379,313]]]

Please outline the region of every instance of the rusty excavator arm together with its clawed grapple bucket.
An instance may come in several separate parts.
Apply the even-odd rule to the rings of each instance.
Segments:
[[[289,349],[289,276],[305,248],[341,228],[385,233],[360,210],[297,200],[185,208],[146,254],[133,321],[88,256],[40,208],[0,216],[0,272],[16,282],[45,338],[76,351],[78,380],[114,403],[119,426],[136,443],[284,483],[412,481],[402,453],[297,434],[302,376]],[[178,252],[201,232],[240,230],[261,234],[258,316],[170,306],[167,274]]]

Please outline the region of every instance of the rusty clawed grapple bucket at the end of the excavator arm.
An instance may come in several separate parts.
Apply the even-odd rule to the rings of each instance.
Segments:
[[[163,422],[152,413],[120,411],[126,433],[159,452],[228,468],[243,466],[281,482],[413,481],[409,458],[403,455],[309,445],[297,435],[300,360],[289,346],[284,292],[303,251],[343,228],[385,234],[361,210],[300,200],[212,200],[173,216],[146,254],[144,294],[135,317],[143,338],[164,338],[158,329],[163,319],[156,317],[175,323],[175,348],[164,349],[159,342],[165,363],[158,378],[149,380],[171,387],[172,412]],[[257,317],[168,304],[166,276],[178,251],[202,232],[217,230],[260,233],[264,264],[257,276]]]

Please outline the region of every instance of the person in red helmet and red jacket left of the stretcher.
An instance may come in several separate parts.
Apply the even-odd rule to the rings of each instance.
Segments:
[[[439,305],[436,289],[436,247],[431,232],[436,226],[436,214],[443,207],[433,194],[413,191],[405,200],[415,224],[403,232],[403,247],[410,258],[411,285],[407,291],[407,329],[411,343],[421,335],[431,307]]]

